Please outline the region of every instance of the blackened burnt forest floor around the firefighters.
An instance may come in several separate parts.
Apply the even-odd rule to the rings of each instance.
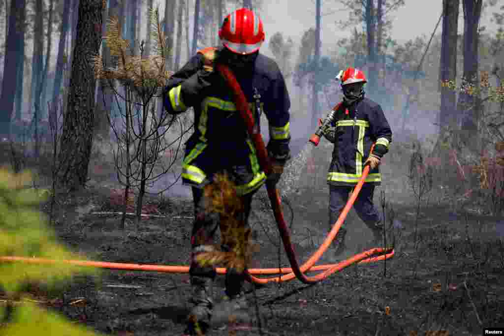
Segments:
[[[157,215],[165,217],[145,218],[138,225],[130,218],[122,228],[119,216],[93,214],[117,210],[110,204],[114,186],[107,176],[79,194],[58,196],[52,226],[59,240],[91,260],[186,265],[191,199],[148,199]],[[399,188],[390,181],[386,188]],[[306,260],[326,232],[327,187],[305,184],[289,197],[298,260]],[[259,245],[251,267],[289,266],[263,199],[260,194],[255,197],[251,214]],[[379,191],[375,200],[380,205]],[[483,326],[503,327],[504,243],[496,234],[502,217],[469,208],[454,210],[453,202],[441,200],[422,206],[417,217],[415,202],[397,194],[388,200],[388,208],[389,236],[396,240],[394,258],[350,266],[313,286],[293,280],[258,287],[254,293],[248,285],[248,318],[234,314],[239,327],[233,326],[233,315],[220,303],[224,286],[218,276],[210,334],[480,335]],[[285,209],[290,219],[289,207]],[[339,258],[328,251],[324,263],[372,247],[370,233],[353,211],[345,225],[348,251]],[[100,277],[75,276],[61,292],[46,295],[49,309],[103,334],[179,335],[191,307],[188,280],[186,274],[103,270]],[[81,304],[71,304],[79,299]]]

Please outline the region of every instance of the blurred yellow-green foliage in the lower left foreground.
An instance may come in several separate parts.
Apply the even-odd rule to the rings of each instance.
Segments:
[[[13,174],[0,170],[0,256],[37,257],[55,260],[38,264],[0,261],[0,288],[8,302],[23,297],[27,283],[43,283],[47,289],[56,289],[74,273],[96,274],[91,268],[59,262],[78,259],[78,256],[56,242],[47,226],[45,216],[37,210],[48,193],[30,188],[31,174]],[[12,307],[12,306],[11,306]],[[26,335],[31,333],[91,335],[91,331],[66,322],[64,318],[24,302],[9,311],[0,309],[0,317],[8,315],[9,322],[2,334]]]

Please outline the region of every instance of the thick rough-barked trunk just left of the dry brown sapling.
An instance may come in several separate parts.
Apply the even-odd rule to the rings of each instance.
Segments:
[[[67,112],[59,152],[59,183],[76,190],[88,177],[93,145],[96,80],[92,59],[100,51],[102,0],[81,1]]]

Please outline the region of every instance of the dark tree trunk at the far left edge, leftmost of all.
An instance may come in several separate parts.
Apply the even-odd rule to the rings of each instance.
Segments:
[[[9,14],[9,35],[7,36],[7,45],[4,61],[4,78],[2,85],[2,95],[0,96],[0,140],[10,137],[10,124],[12,110],[14,107],[14,97],[16,95],[16,86],[10,85],[16,83],[16,75],[19,63],[23,59],[19,57],[22,54],[20,40],[24,41],[25,36],[25,6],[26,0],[19,0],[17,6],[11,6]]]

